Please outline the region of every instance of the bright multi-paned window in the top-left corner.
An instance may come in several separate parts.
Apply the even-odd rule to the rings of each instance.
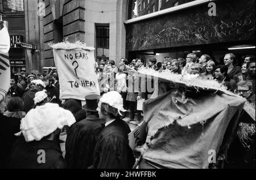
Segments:
[[[16,12],[24,11],[24,0],[1,0],[3,11]]]

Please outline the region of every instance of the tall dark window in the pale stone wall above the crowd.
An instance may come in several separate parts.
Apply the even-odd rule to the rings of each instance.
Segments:
[[[109,27],[96,27],[97,59],[109,59]]]

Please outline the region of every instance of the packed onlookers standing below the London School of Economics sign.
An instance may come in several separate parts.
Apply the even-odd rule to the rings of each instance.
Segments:
[[[127,59],[121,58],[119,65],[115,65],[113,60],[107,61],[103,58],[97,67],[97,76],[101,95],[110,91],[121,93],[123,106],[130,112],[130,121],[135,120],[139,123],[142,118],[141,112],[136,110],[137,100],[141,98],[146,100],[152,92],[148,92],[146,88],[143,89],[141,79],[129,72],[137,71],[140,67],[145,66],[159,72],[170,71],[183,75],[194,74],[201,79],[216,80],[229,91],[236,93],[242,93],[237,89],[237,83],[246,81],[252,87],[251,96],[254,96],[255,56],[246,55],[242,61],[238,61],[232,53],[225,54],[222,63],[213,61],[208,54],[198,57],[194,53],[189,53],[185,59],[164,57],[163,63],[158,62],[156,58],[149,59],[148,63],[142,58],[133,59],[130,63],[128,63]],[[237,66],[238,64],[242,66]],[[135,84],[139,84],[139,88]],[[134,115],[136,112],[137,118]]]

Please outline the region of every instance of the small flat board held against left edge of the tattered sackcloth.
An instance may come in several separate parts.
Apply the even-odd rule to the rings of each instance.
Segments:
[[[137,146],[143,145],[146,142],[146,135],[146,123],[143,121],[128,135],[130,148],[134,150]]]

